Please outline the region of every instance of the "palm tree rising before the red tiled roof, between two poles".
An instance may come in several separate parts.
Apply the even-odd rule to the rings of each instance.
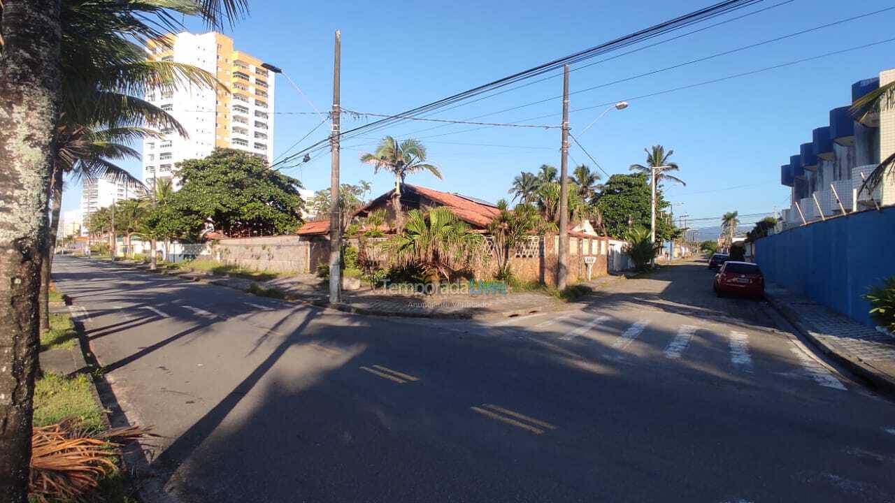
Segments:
[[[373,165],[373,173],[383,170],[395,175],[392,209],[395,210],[395,223],[398,229],[404,228],[401,185],[404,184],[407,175],[428,171],[439,179],[441,178],[438,166],[426,162],[426,148],[418,140],[405,140],[398,143],[391,136],[386,136],[379,142],[375,152],[361,155],[361,162]]]

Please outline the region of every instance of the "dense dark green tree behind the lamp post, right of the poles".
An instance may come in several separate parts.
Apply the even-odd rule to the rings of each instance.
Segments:
[[[635,175],[611,175],[609,180],[601,186],[600,192],[594,195],[594,207],[601,212],[602,223],[609,236],[616,239],[626,239],[628,234],[628,218],[631,227],[650,226],[650,186],[646,181],[647,175],[637,173]],[[661,211],[668,208],[661,191],[656,192],[656,205]],[[660,240],[668,239],[674,232],[674,227],[669,224],[667,218],[656,218],[656,237]]]

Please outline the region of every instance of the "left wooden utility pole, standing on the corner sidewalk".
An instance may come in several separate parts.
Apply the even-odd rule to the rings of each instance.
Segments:
[[[332,171],[329,175],[329,302],[342,302],[342,217],[339,208],[338,154],[339,154],[339,88],[342,72],[342,34],[336,30],[336,51],[333,59],[333,111],[332,134],[329,146],[332,150]]]

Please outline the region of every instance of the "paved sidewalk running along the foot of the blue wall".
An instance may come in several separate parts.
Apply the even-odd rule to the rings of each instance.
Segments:
[[[895,337],[779,286],[768,286],[765,296],[825,354],[874,387],[895,396]]]

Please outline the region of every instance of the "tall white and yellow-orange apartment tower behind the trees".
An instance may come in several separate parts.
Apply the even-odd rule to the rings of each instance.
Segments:
[[[189,138],[163,131],[143,141],[143,182],[173,178],[176,163],[204,158],[215,148],[241,149],[273,158],[274,74],[260,59],[234,49],[233,38],[216,32],[168,36],[168,45],[149,46],[149,59],[192,64],[212,72],[231,92],[196,86],[153,92],[146,98],[174,115]],[[175,183],[176,187],[176,183]]]

